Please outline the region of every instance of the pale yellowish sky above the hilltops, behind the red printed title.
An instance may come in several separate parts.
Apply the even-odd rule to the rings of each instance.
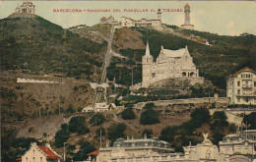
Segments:
[[[221,35],[239,35],[248,32],[256,35],[256,1],[32,1],[35,14],[61,27],[78,25],[94,26],[101,17],[122,16],[134,20],[156,19],[161,9],[163,24],[181,26],[183,12],[166,12],[183,9],[188,3],[191,8],[190,22],[196,30],[209,31]],[[0,19],[14,13],[22,1],[0,1]],[[83,12],[53,12],[60,9],[81,9]],[[84,12],[84,10],[109,9],[110,12]],[[113,12],[119,9],[120,12]],[[124,12],[125,9],[149,12]],[[165,12],[163,11],[165,10]],[[153,12],[151,12],[153,10]]]

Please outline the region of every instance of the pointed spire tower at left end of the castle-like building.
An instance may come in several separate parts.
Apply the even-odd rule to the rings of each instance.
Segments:
[[[151,82],[151,66],[153,64],[153,57],[151,55],[149,42],[147,42],[145,55],[142,57],[142,84],[148,85]]]

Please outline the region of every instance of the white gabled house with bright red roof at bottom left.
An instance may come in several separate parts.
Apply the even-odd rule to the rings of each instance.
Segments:
[[[30,149],[17,160],[21,162],[60,162],[61,156],[50,147],[50,144],[42,146],[33,142]]]

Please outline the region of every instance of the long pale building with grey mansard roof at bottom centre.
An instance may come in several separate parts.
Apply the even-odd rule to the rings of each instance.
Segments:
[[[118,138],[112,147],[99,148],[96,161],[100,162],[157,162],[182,159],[181,153],[171,153],[170,144],[159,138]]]

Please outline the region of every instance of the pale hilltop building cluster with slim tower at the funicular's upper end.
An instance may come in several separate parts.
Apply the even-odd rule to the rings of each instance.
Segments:
[[[141,20],[134,20],[128,17],[121,17],[121,21],[116,21],[112,16],[100,19],[100,24],[112,24],[115,28],[122,27],[146,27],[146,26],[160,26],[161,25],[161,12],[160,9],[157,13],[157,19],[147,20],[146,18]]]

